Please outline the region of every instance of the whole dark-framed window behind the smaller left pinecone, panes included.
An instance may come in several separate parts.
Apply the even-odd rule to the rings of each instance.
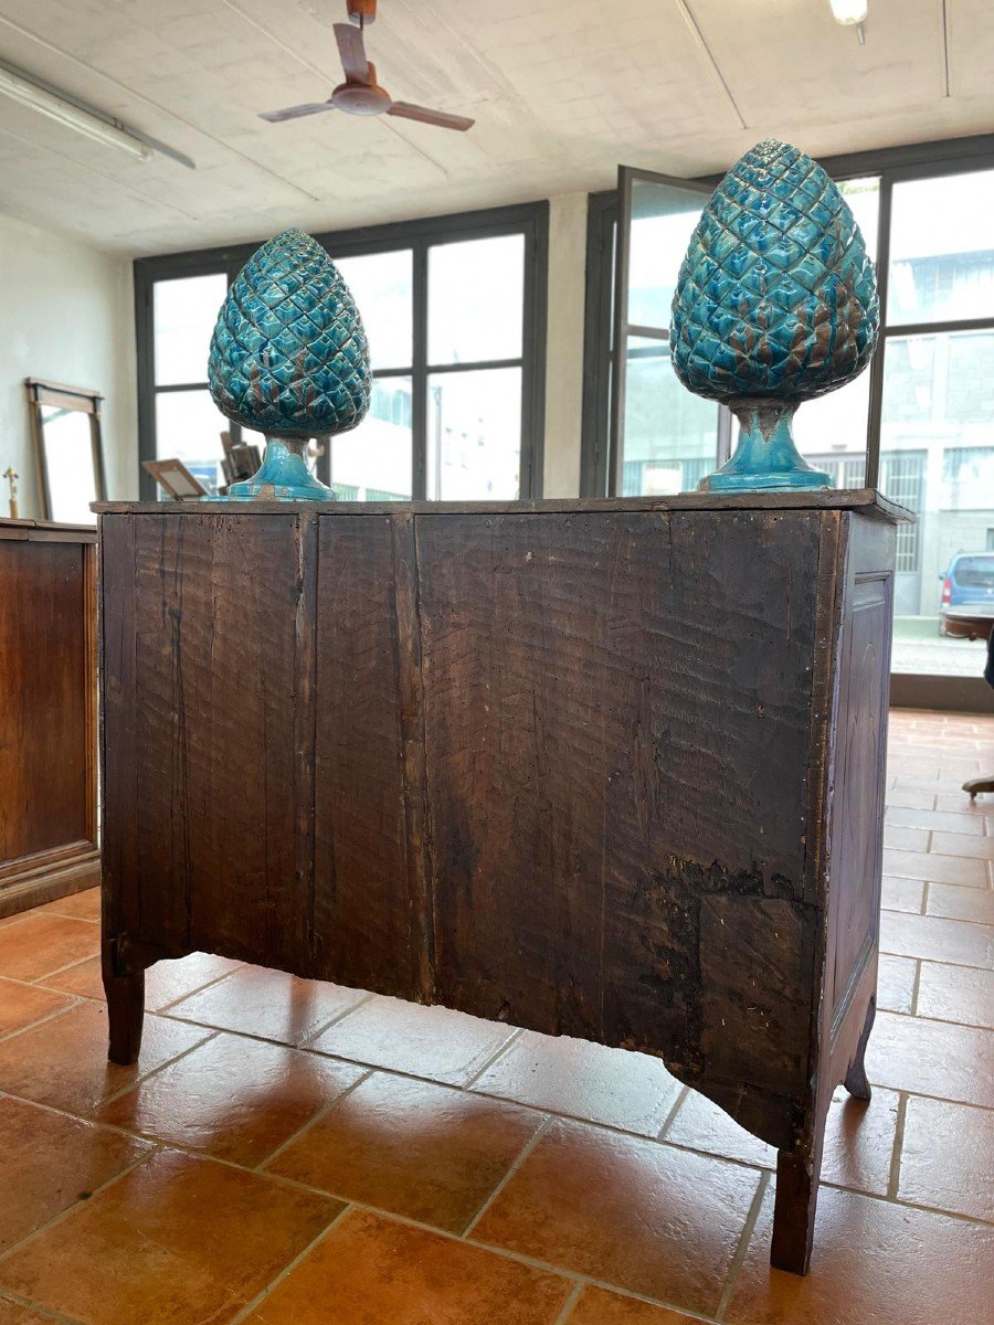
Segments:
[[[317,473],[339,500],[541,496],[547,229],[537,203],[317,236],[355,295],[374,374],[363,423],[319,439]],[[140,456],[179,456],[212,489],[221,431],[262,443],[215,409],[205,380],[217,310],[256,246],[135,262]]]

